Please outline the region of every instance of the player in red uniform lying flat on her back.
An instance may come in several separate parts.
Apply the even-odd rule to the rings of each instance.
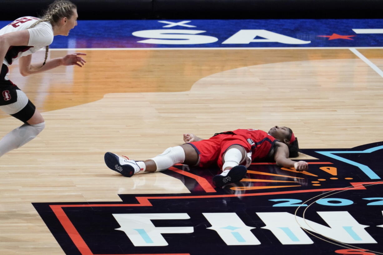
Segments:
[[[216,163],[223,171],[213,177],[217,187],[240,181],[254,160],[273,159],[281,167],[294,167],[297,171],[308,169],[307,162],[288,159],[298,157],[299,149],[298,140],[288,127],[275,126],[268,133],[258,129],[237,129],[214,134],[209,139],[184,134],[183,141],[185,144],[170,147],[145,161],[125,159],[111,152],[106,152],[104,160],[111,170],[126,177],[160,172],[178,163],[199,167]]]

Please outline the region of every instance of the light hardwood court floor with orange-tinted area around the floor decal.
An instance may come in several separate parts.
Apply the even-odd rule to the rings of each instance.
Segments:
[[[383,70],[381,48],[357,51]],[[118,175],[107,151],[144,160],[186,132],[274,125],[293,129],[304,149],[383,141],[383,77],[347,48],[52,49],[50,58],[69,52],[86,53],[85,66],[21,77],[12,65],[46,128],[0,159],[1,254],[65,254],[31,203],[190,193],[164,173]],[[0,118],[2,135],[21,124]]]

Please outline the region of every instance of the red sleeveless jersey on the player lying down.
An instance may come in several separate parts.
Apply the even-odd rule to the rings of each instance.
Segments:
[[[273,148],[275,141],[274,137],[267,132],[259,129],[237,129],[234,134],[244,137],[251,146],[251,159],[265,159]]]

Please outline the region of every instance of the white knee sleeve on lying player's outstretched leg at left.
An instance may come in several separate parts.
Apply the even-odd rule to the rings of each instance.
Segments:
[[[185,161],[185,151],[181,146],[170,147],[151,160],[157,166],[156,172],[166,170],[175,164],[183,163]]]

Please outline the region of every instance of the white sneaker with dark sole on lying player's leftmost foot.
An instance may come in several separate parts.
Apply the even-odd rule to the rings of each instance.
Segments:
[[[124,159],[114,153],[106,152],[104,155],[106,165],[113,171],[121,173],[123,176],[131,177],[140,171],[136,161]]]

